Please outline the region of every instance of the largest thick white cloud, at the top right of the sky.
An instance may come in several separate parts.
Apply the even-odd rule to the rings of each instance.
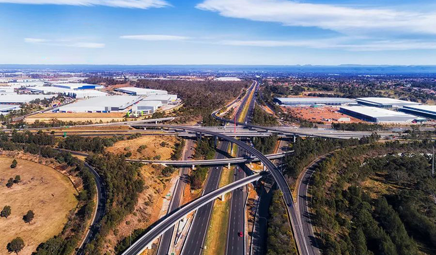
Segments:
[[[349,35],[389,31],[436,34],[435,12],[353,8],[293,0],[205,0],[196,7],[226,17],[318,27]]]

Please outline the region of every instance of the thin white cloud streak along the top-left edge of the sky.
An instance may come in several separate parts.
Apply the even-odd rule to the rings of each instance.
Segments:
[[[161,8],[171,6],[165,0],[0,0],[0,3],[20,3],[20,4],[62,4],[62,5],[105,5],[123,8]]]

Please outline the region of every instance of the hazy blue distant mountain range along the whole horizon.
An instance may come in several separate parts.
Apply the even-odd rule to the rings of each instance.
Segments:
[[[84,65],[84,64],[0,64],[0,72],[11,71],[67,72],[135,72],[135,73],[286,73],[286,74],[354,74],[400,75],[436,74],[436,65]]]

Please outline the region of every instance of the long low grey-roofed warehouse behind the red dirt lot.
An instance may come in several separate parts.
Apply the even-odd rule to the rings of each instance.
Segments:
[[[289,106],[356,104],[355,100],[342,97],[275,97],[274,102]]]

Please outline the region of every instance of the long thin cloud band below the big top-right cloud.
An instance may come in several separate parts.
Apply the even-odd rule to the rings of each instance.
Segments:
[[[363,40],[362,38],[338,37],[314,40],[222,40],[222,45],[258,47],[307,47],[317,49],[343,49],[348,51],[384,51],[436,49],[435,41],[424,40]]]

